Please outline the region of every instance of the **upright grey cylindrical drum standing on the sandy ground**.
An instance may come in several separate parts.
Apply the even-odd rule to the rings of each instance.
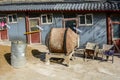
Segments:
[[[11,42],[11,65],[15,68],[24,67],[26,64],[26,43],[22,41]]]

